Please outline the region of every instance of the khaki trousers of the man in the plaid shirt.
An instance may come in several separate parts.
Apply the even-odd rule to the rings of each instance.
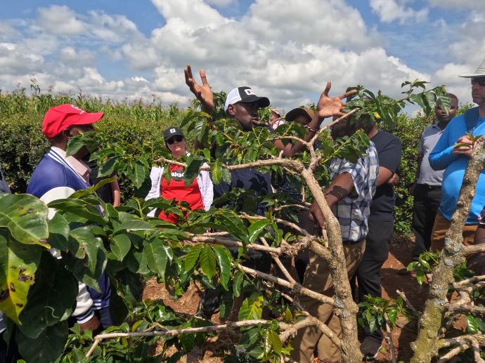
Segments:
[[[365,239],[356,244],[344,244],[345,263],[349,277],[356,272],[365,249]],[[334,295],[330,269],[323,258],[315,255],[310,257],[303,286],[323,293],[326,296]],[[340,319],[333,313],[332,305],[322,304],[308,296],[300,296],[299,302],[313,317],[317,317],[321,322],[327,324],[336,336],[341,337],[342,327],[340,326]],[[292,347],[294,348],[292,350],[292,359],[299,363],[313,362],[313,350],[316,347],[318,348],[318,359],[321,362],[340,362],[342,359],[340,350],[314,326],[300,329],[292,342]]]

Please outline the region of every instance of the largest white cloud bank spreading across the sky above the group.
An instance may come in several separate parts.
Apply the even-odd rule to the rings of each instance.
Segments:
[[[252,86],[289,110],[315,101],[328,80],[332,95],[364,84],[398,96],[401,81],[437,77],[385,51],[382,36],[344,0],[257,0],[238,20],[209,6],[226,3],[231,5],[230,0],[153,0],[164,25],[146,37],[124,15],[82,15],[51,6],[77,27],[60,34],[46,26],[39,10],[36,20],[25,20],[30,30],[14,28],[23,39],[12,33],[4,41],[13,50],[0,46],[0,81],[13,87],[35,77],[54,91],[80,88],[106,98],[148,101],[155,95],[185,105],[193,97],[183,81],[190,62],[195,74],[206,68],[216,91]],[[110,62],[119,68],[109,69]]]

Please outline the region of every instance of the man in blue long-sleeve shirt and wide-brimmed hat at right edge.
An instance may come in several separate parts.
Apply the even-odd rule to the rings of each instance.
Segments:
[[[446,232],[451,224],[451,216],[456,209],[465,169],[472,154],[473,140],[467,135],[485,135],[485,60],[477,70],[460,77],[470,78],[472,99],[478,107],[467,110],[450,121],[444,129],[434,150],[429,155],[429,164],[434,170],[444,170],[441,185],[441,204],[439,205],[431,237],[431,249],[441,251]],[[463,227],[463,243],[474,244],[478,217],[485,205],[485,171],[481,171],[475,188],[475,195]],[[480,260],[480,258],[482,258]],[[469,267],[483,263],[483,254],[470,258]]]

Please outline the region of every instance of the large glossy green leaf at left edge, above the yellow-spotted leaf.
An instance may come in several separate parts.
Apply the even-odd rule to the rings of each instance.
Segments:
[[[0,227],[6,227],[22,244],[51,248],[47,213],[46,204],[30,194],[0,194]]]

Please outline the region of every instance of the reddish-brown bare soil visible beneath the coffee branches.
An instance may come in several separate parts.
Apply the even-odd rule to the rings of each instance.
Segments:
[[[384,298],[397,298],[396,290],[406,294],[410,303],[417,310],[422,310],[427,298],[427,284],[418,285],[415,277],[411,275],[400,275],[399,270],[410,263],[411,251],[413,249],[413,239],[408,237],[395,236],[394,241],[389,246],[389,258],[382,266],[382,296]],[[157,284],[156,279],[150,280],[143,291],[145,300],[163,300],[165,305],[179,312],[195,314],[197,312],[200,291],[197,286],[190,286],[188,291],[178,300],[169,296],[169,292],[164,289],[162,284]],[[231,319],[231,317],[229,318]],[[416,338],[415,322],[407,322],[406,319],[398,319],[401,324],[392,331],[392,343],[397,355],[397,361],[409,362],[412,355],[410,343]],[[212,317],[214,324],[221,324],[219,315]],[[362,337],[363,338],[363,337]],[[190,352],[187,357],[183,357],[180,362],[224,362],[224,347],[237,343],[238,337],[230,333],[220,334],[214,338],[209,338],[202,348],[197,348]],[[160,352],[162,346],[157,347],[156,352]],[[383,348],[374,362],[391,362],[391,352],[387,342],[384,340]]]

